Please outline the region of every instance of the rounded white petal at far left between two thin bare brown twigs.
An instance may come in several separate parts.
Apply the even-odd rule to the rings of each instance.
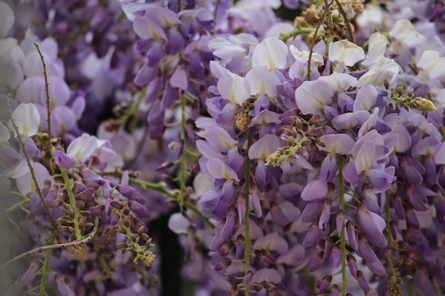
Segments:
[[[18,133],[20,136],[34,136],[38,131],[38,125],[40,124],[41,115],[38,113],[38,109],[34,104],[20,104],[12,113],[12,118],[14,123],[18,128]],[[14,136],[16,131],[12,125],[11,120],[9,121],[9,128],[14,131]]]

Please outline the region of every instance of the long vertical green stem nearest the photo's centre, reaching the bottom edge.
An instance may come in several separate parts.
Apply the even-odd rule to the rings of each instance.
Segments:
[[[249,136],[247,138],[247,151],[252,146],[253,128],[249,129]],[[245,195],[246,195],[246,216],[245,216],[245,270],[244,275],[247,278],[247,272],[250,270],[250,208],[249,208],[249,194],[250,194],[250,158],[246,156],[246,175],[245,175]],[[245,296],[249,296],[249,285],[245,283]]]

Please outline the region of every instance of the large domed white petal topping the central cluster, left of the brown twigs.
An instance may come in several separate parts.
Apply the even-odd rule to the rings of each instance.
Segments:
[[[287,62],[287,45],[277,37],[262,40],[252,53],[252,67],[266,66],[269,70],[283,69]]]

